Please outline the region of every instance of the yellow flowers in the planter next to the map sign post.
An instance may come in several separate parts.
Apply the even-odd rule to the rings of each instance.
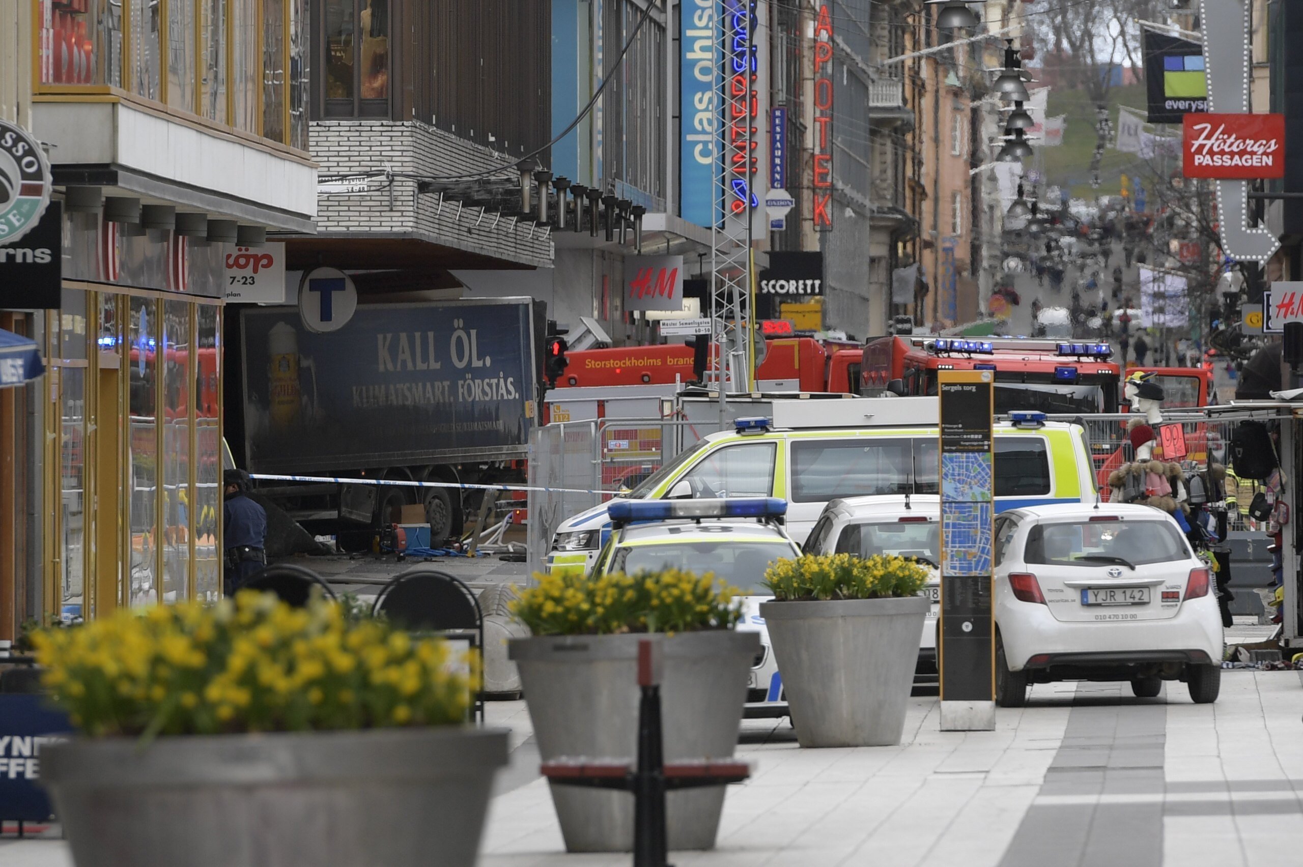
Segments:
[[[779,560],[765,573],[778,601],[915,596],[926,582],[926,566],[894,555],[804,555]]]

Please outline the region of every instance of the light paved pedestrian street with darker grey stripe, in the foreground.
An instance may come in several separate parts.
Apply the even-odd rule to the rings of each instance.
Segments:
[[[679,867],[1255,867],[1303,857],[1303,685],[1294,672],[1226,670],[1221,699],[1183,683],[1036,686],[997,730],[937,730],[911,700],[898,747],[801,750],[786,720],[747,721],[752,778],[724,801],[714,851]],[[502,716],[506,715],[506,716]],[[490,706],[517,737],[528,716]],[[567,855],[547,785],[520,737],[493,802],[485,867],[627,866]],[[512,775],[517,775],[512,777]]]

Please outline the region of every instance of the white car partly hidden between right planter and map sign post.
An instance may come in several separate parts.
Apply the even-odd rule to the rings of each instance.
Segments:
[[[833,500],[801,547],[805,553],[913,557],[928,570],[920,595],[932,600],[919,638],[916,674],[936,680],[941,609],[941,497],[934,493]],[[916,678],[917,680],[917,678]]]

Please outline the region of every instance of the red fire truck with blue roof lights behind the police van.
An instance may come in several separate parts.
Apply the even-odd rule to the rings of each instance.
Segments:
[[[943,370],[995,371],[995,411],[1117,413],[1122,370],[1105,342],[894,336],[861,350],[860,393],[936,394]]]

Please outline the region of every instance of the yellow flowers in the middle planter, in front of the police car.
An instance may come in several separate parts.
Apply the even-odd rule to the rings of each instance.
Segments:
[[[534,573],[536,586],[520,594],[512,611],[534,635],[610,635],[728,629],[737,622],[736,587],[710,573],[691,571],[585,575],[560,570]]]

